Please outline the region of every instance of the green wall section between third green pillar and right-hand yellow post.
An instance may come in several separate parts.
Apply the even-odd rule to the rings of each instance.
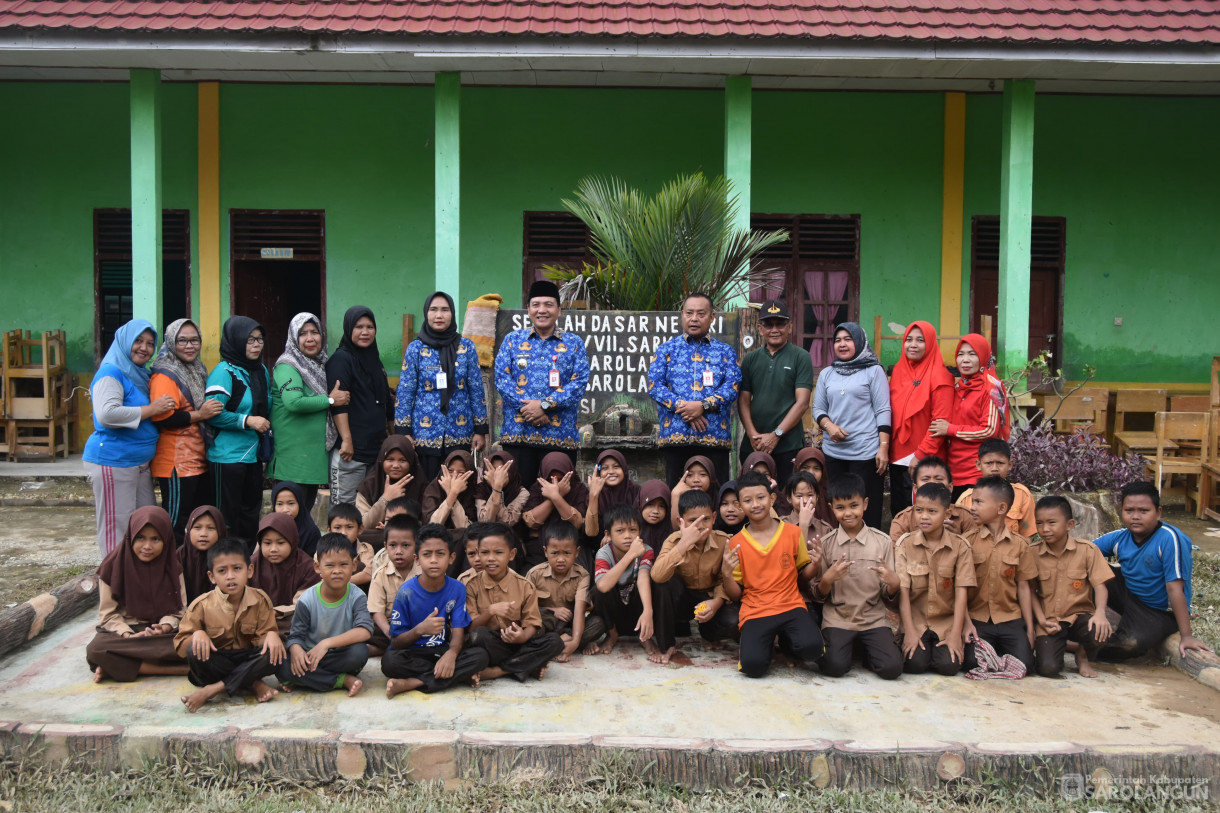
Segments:
[[[860,215],[870,337],[877,314],[938,321],[943,133],[941,94],[754,94],[754,211]],[[882,349],[898,360],[898,342]]]

